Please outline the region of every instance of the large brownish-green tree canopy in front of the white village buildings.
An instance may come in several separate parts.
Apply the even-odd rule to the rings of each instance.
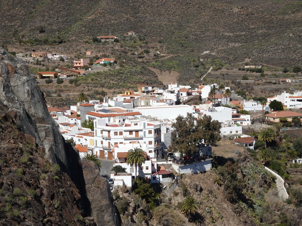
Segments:
[[[210,116],[204,115],[202,119],[188,113],[187,117],[178,116],[172,125],[175,131],[172,135],[172,152],[180,152],[191,156],[196,151],[196,146],[204,139],[205,143],[213,144],[220,140],[221,124]]]

